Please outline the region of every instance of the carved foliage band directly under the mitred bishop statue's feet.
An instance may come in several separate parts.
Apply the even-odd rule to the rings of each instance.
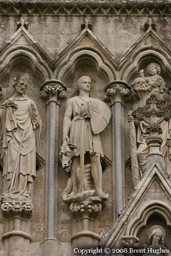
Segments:
[[[27,214],[32,215],[33,204],[26,201],[4,201],[1,205],[3,215]]]

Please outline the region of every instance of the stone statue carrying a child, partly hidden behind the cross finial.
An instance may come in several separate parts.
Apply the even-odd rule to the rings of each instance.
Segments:
[[[136,95],[135,103],[133,105],[133,110],[135,111],[139,107],[145,107],[147,99],[151,95],[155,95],[157,99],[159,99],[159,105],[162,107],[167,107],[170,103],[170,95],[165,92],[165,83],[164,80],[159,76],[160,74],[160,66],[157,63],[150,63],[147,66],[147,74],[149,77],[145,77],[143,75],[143,70],[140,71],[140,78],[136,78],[132,84],[132,90],[134,91],[134,95]],[[128,116],[128,122],[132,124],[134,120],[133,116]],[[140,176],[146,170],[146,159],[149,153],[148,145],[146,143],[146,139],[149,136],[147,133],[147,126],[149,125],[145,120],[135,121],[135,126],[137,126],[137,134],[132,134],[132,136],[136,136],[137,141],[137,161],[139,163],[139,172]],[[158,120],[156,120],[158,122]],[[162,120],[160,122],[160,127],[162,128],[162,134],[160,135],[162,138],[162,145],[160,147],[160,151],[164,158],[164,164],[166,172],[171,179],[171,151],[170,151],[170,143],[171,143],[171,122],[170,120]],[[135,146],[134,146],[135,147]],[[135,150],[134,150],[135,151]],[[134,157],[135,158],[135,157]],[[135,162],[135,161],[134,161]]]

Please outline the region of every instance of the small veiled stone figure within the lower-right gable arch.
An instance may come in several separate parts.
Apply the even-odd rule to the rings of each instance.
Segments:
[[[152,226],[149,230],[148,245],[143,256],[168,255],[169,250],[164,247],[166,232],[162,226]]]

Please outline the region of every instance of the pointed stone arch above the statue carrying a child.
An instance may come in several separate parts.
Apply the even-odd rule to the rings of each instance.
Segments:
[[[120,79],[129,81],[130,77],[137,73],[141,62],[149,57],[157,59],[167,73],[171,72],[170,50],[152,29],[147,31],[124,55],[119,64]]]

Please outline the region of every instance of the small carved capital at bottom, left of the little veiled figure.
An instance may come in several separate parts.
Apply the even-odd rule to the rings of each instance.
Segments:
[[[139,247],[139,238],[136,236],[122,236],[122,245],[126,249],[126,256],[137,255],[134,251]]]

